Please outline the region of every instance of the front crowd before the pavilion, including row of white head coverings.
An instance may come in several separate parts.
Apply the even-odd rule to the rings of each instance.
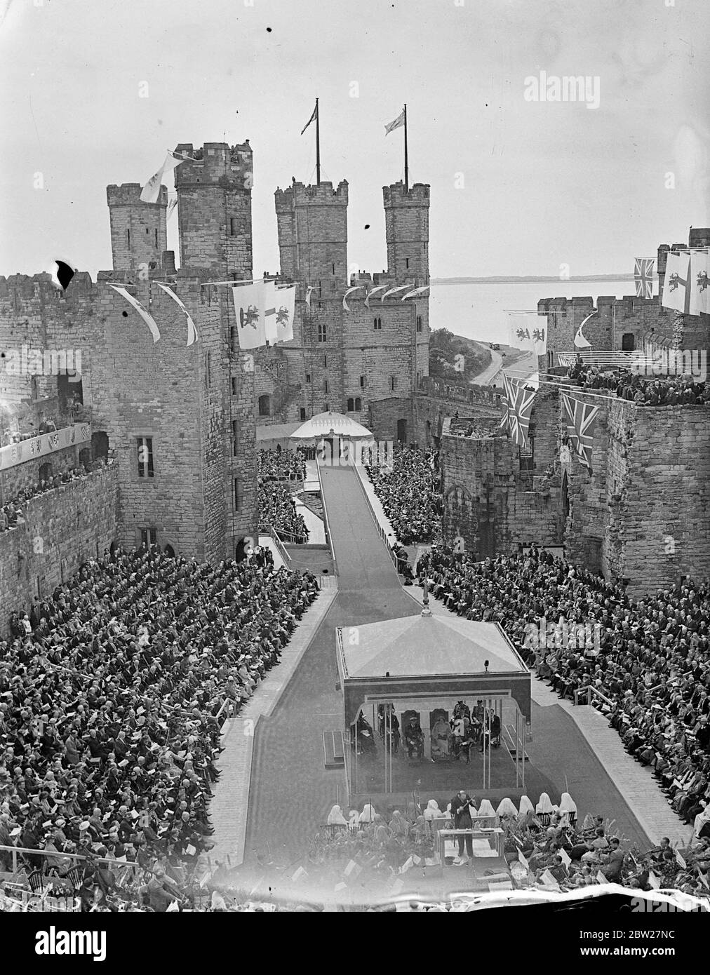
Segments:
[[[439,830],[499,827],[504,834],[505,860],[516,887],[573,890],[609,882],[645,891],[672,887],[696,897],[710,896],[706,885],[710,837],[700,839],[692,848],[679,850],[681,856],[668,838],[661,839],[657,847],[640,851],[615,835],[603,816],[587,815],[579,822],[569,793],[563,793],[558,805],[546,793],[534,805],[523,796],[518,808],[510,799],[500,800],[496,808],[490,800],[476,803],[473,799],[469,818],[460,823],[455,810],[464,801],[459,800],[461,796],[471,800],[464,793],[441,805],[439,800],[429,800],[425,808],[411,807],[407,815],[395,809],[383,816],[368,803],[362,812],[351,810],[345,818],[340,806],[335,805],[328,824],[311,841],[303,868],[331,887],[346,871],[352,873],[352,863],[356,865],[358,883],[368,886],[370,881],[375,886],[377,879],[391,883],[413,868],[425,872],[440,862]],[[459,840],[462,850],[464,841]],[[469,849],[473,849],[472,843]],[[446,855],[453,857],[454,853],[452,849]],[[453,862],[454,866],[465,866],[469,857],[459,855]]]

